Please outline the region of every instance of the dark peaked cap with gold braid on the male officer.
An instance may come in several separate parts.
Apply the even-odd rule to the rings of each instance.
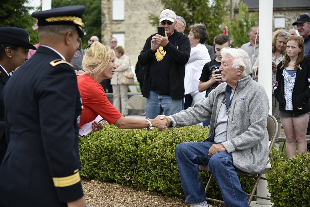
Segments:
[[[84,36],[82,26],[82,14],[86,10],[85,6],[75,5],[59,7],[45,11],[33,12],[31,15],[38,19],[38,26],[68,24],[77,26],[79,37]]]

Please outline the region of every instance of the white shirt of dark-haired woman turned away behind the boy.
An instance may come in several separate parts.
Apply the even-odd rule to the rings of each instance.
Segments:
[[[191,48],[191,55],[185,65],[185,94],[189,94],[196,90],[198,92],[198,84],[202,68],[210,61],[211,59],[208,49],[204,44],[199,43],[196,47]]]

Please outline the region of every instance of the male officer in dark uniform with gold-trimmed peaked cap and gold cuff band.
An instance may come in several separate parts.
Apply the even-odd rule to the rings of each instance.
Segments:
[[[81,99],[69,63],[85,6],[32,13],[40,46],[3,90],[8,147],[0,167],[0,206],[86,206],[79,170]]]

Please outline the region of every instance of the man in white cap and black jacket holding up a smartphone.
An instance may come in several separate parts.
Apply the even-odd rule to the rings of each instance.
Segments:
[[[191,49],[188,37],[175,29],[174,11],[163,10],[159,26],[164,27],[164,36],[156,33],[148,37],[138,57],[139,64],[147,65],[142,91],[147,98],[146,118],[150,119],[183,109],[185,64]]]

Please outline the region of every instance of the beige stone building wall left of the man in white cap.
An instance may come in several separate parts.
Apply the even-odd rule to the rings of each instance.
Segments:
[[[125,0],[125,19],[112,20],[112,0],[101,1],[101,42],[109,46],[113,33],[125,33],[125,53],[135,66],[146,39],[157,32],[149,14],[160,15],[163,6],[156,0]]]

